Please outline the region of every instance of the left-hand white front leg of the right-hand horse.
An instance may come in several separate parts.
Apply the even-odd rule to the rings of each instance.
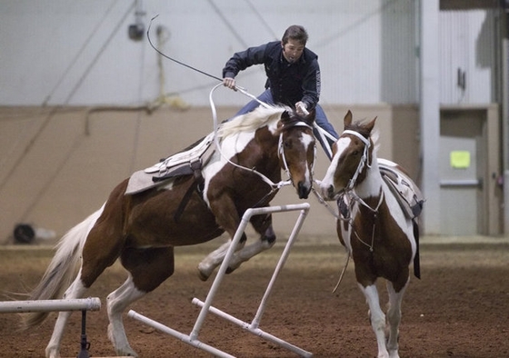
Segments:
[[[380,299],[378,297],[378,291],[376,290],[376,284],[372,283],[363,286],[359,283],[359,287],[364,293],[366,303],[369,306],[369,319],[374,335],[376,336],[376,343],[378,344],[378,358],[389,358],[389,353],[385,346],[385,314],[380,308]]]

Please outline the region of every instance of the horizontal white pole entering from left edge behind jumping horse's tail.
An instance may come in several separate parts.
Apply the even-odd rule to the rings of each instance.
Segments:
[[[28,313],[51,311],[99,311],[101,300],[89,297],[74,300],[4,301],[0,313]]]

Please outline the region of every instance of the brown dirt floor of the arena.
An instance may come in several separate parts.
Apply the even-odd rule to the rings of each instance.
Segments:
[[[219,239],[221,240],[221,239]],[[344,250],[337,239],[298,238],[274,285],[260,328],[314,353],[314,357],[375,357],[374,333],[367,306],[354,281],[351,263],[338,291],[332,293],[344,265]],[[132,309],[182,333],[191,333],[199,307],[213,282],[201,282],[196,265],[221,241],[176,252],[175,274]],[[284,239],[266,253],[226,275],[214,306],[251,322],[264,289],[284,247]],[[507,357],[509,356],[509,240],[478,237],[422,239],[422,280],[412,278],[403,303],[400,327],[401,357]],[[26,292],[35,286],[53,255],[43,245],[0,247],[0,289]],[[90,290],[103,304],[107,293],[125,280],[115,264]],[[380,283],[385,300],[384,284]],[[3,300],[10,295],[4,295]],[[55,323],[55,313],[37,330],[16,330],[16,313],[0,313],[0,357],[43,357]],[[125,315],[131,345],[140,357],[209,357],[165,333]],[[106,337],[105,306],[87,314],[87,338],[93,357],[115,355]],[[62,347],[64,357],[80,350],[81,314],[68,325]],[[247,333],[209,313],[199,338],[238,357],[294,357],[274,343]]]

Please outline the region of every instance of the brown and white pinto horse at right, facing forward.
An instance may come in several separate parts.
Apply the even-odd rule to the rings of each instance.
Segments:
[[[409,265],[418,257],[418,228],[382,177],[372,135],[375,120],[353,124],[350,111],[344,116],[344,132],[334,144],[334,157],[320,190],[326,200],[337,200],[336,231],[354,259],[355,278],[369,305],[378,358],[394,358],[398,357],[398,327]],[[417,275],[416,266],[414,262]],[[375,284],[378,277],[386,280],[389,293],[387,323]]]

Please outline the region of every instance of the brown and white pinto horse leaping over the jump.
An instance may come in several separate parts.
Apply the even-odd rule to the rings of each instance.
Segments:
[[[105,268],[120,258],[128,277],[107,297],[108,336],[116,354],[137,356],[125,335],[122,313],[174,273],[175,246],[230,235],[229,242],[199,264],[200,277],[206,279],[225,257],[245,210],[272,200],[281,186],[274,182],[291,182],[298,196],[307,198],[313,184],[313,122],[313,115],[301,117],[282,106],[260,106],[221,124],[215,152],[203,164],[201,184],[196,185],[200,175],[194,174],[163,180],[137,194],[125,194],[129,179],[118,184],[101,209],[63,236],[30,299],[83,297]],[[281,182],[282,169],[289,181]],[[253,216],[251,224],[260,240],[245,246],[244,234],[229,272],[274,244],[271,219]],[[60,356],[69,315],[58,314],[46,357]],[[46,316],[30,313],[25,328],[42,323]]]

